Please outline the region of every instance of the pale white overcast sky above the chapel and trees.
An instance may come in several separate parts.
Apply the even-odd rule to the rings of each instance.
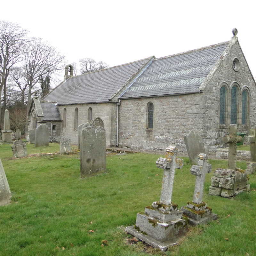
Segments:
[[[66,56],[115,66],[231,39],[256,77],[254,1],[1,1],[2,20],[17,22]],[[64,70],[63,70],[64,75]]]

